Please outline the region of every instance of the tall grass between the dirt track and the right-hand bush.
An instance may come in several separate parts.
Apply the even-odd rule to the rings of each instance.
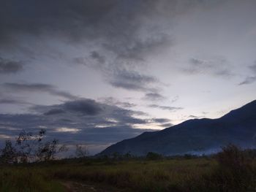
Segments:
[[[206,159],[120,161],[115,164],[63,166],[53,177],[62,180],[113,185],[122,191],[170,191],[190,178],[211,172],[215,161]]]

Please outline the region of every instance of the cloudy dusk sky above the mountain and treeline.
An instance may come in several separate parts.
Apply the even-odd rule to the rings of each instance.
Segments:
[[[256,99],[255,0],[0,0],[0,142],[98,153]]]

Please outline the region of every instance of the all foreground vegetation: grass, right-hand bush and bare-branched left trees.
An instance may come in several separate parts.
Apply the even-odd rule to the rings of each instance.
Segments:
[[[157,153],[148,153],[146,158],[135,158],[129,153],[89,158],[87,150],[78,145],[77,158],[54,160],[60,146],[54,139],[42,142],[42,135],[31,137],[23,133],[15,145],[7,140],[1,150],[0,191],[61,192],[67,191],[64,183],[68,182],[93,185],[94,191],[108,191],[108,187],[109,191],[166,192],[236,192],[256,188],[255,150],[241,150],[235,145],[227,145],[211,157],[169,158]],[[29,157],[35,161],[29,161]]]

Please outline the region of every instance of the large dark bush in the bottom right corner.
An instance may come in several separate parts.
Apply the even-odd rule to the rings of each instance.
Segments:
[[[236,145],[222,147],[213,172],[190,180],[187,188],[189,191],[255,191],[256,175],[250,160]]]

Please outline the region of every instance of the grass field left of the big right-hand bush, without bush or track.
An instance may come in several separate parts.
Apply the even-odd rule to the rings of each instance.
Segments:
[[[110,185],[121,191],[169,191],[216,166],[210,159],[56,161],[1,166],[0,191],[64,191],[60,181]]]

